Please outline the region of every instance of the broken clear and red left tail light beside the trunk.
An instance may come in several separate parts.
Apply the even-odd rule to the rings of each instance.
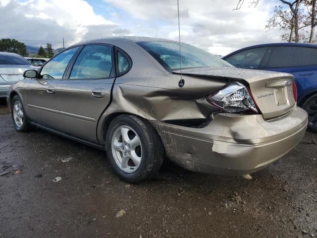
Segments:
[[[209,103],[227,113],[259,112],[248,88],[238,82],[228,84],[225,88],[208,95],[206,99]]]

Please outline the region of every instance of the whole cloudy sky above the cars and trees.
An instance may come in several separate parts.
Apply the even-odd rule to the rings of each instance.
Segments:
[[[243,47],[280,42],[265,24],[277,0],[179,0],[181,42],[225,56]],[[178,41],[177,0],[0,0],[0,38],[30,46],[65,47],[109,36]],[[22,41],[23,40],[23,41]],[[26,41],[33,40],[33,41]],[[57,41],[57,42],[55,42]]]

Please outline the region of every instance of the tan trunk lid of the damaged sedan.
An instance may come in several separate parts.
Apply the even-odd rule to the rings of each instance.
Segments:
[[[173,73],[180,73],[175,70]],[[184,75],[206,76],[212,79],[244,81],[264,119],[271,119],[290,112],[296,101],[293,94],[294,77],[288,73],[240,69],[233,67],[204,67],[182,69]]]

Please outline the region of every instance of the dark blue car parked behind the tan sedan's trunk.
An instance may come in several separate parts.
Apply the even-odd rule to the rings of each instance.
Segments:
[[[317,132],[317,45],[276,43],[247,47],[223,60],[238,68],[291,73],[297,85],[297,104],[308,113],[308,127]]]

